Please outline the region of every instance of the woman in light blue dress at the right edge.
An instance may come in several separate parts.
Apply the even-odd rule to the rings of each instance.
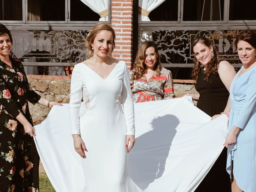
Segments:
[[[243,66],[230,87],[226,170],[232,192],[256,192],[256,33],[245,30],[234,44]]]

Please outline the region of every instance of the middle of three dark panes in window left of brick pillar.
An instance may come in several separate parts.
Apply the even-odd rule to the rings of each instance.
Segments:
[[[28,21],[65,21],[65,0],[28,0]]]

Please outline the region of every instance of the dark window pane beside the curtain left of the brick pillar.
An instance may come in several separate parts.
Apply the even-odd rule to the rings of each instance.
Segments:
[[[71,21],[98,21],[100,16],[91,10],[81,0],[70,0]]]

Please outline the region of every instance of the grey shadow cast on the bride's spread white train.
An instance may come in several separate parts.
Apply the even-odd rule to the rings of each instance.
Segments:
[[[142,190],[162,176],[179,120],[165,115],[150,124],[153,130],[136,138],[129,153],[130,176]]]

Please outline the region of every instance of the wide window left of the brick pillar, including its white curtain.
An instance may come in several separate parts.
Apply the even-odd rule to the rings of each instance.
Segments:
[[[68,26],[65,24],[88,23],[92,26],[100,20],[108,21],[111,0],[97,0],[89,4],[82,0],[0,0],[0,22],[33,23],[44,26]],[[102,3],[101,3],[102,2]],[[93,9],[93,10],[92,10]],[[91,25],[90,25],[91,23]],[[72,25],[70,25],[72,26]],[[78,25],[77,25],[78,26]]]

